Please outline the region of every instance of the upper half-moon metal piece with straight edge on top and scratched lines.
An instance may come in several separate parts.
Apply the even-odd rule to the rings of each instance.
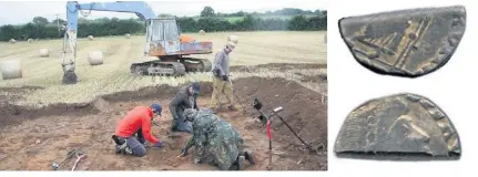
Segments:
[[[466,28],[462,6],[423,8],[343,18],[342,38],[365,67],[417,77],[445,65]]]

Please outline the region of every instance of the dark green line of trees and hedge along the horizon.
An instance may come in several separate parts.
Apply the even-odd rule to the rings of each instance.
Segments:
[[[284,10],[283,10],[284,11]],[[286,12],[291,10],[285,9]],[[282,12],[282,11],[281,11]],[[316,11],[318,12],[318,11]],[[289,12],[293,13],[293,12]],[[297,13],[291,19],[281,18],[262,18],[253,13],[244,13],[242,20],[234,22],[227,21],[224,17],[214,13],[211,7],[205,7],[199,19],[191,17],[176,18],[181,32],[206,32],[220,31],[322,31],[327,30],[327,15],[308,15],[304,11]],[[48,19],[37,17],[23,25],[2,25],[0,27],[0,41],[28,40],[28,39],[58,39],[62,38],[64,31],[59,30],[59,25],[65,25],[64,20],[54,20],[49,22]],[[123,35],[125,33],[143,34],[145,33],[145,23],[139,19],[118,19],[102,18],[95,20],[79,19],[78,37],[88,35]]]

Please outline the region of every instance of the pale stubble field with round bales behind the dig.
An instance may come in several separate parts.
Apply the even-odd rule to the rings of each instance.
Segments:
[[[227,35],[238,37],[236,50],[231,54],[232,65],[256,65],[265,63],[326,63],[326,44],[323,42],[325,32],[221,32],[199,35],[192,33],[199,41],[212,41],[214,53],[195,55],[213,61],[216,51],[226,43]],[[61,40],[34,41],[33,43],[18,42],[16,44],[0,43],[1,60],[20,60],[23,77],[17,80],[0,80],[0,87],[35,85],[43,86],[26,94],[26,98],[17,104],[43,106],[52,103],[89,102],[98,95],[134,91],[140,87],[170,84],[179,85],[193,80],[212,81],[209,73],[192,74],[185,77],[135,76],[130,73],[130,64],[148,61],[142,56],[144,37],[108,37],[95,38],[94,41],[80,39],[78,42],[77,75],[80,83],[62,85]],[[50,58],[40,58],[39,50],[48,48]],[[91,66],[88,64],[88,52],[102,51],[104,64]],[[312,71],[309,71],[312,72]],[[326,71],[317,71],[325,72]],[[313,72],[312,72],[313,73]],[[297,76],[286,75],[276,71],[258,73],[232,73],[233,77],[282,76],[295,80]],[[309,88],[323,92],[317,85]],[[314,88],[315,87],[315,88]],[[323,87],[323,86],[322,86]]]

